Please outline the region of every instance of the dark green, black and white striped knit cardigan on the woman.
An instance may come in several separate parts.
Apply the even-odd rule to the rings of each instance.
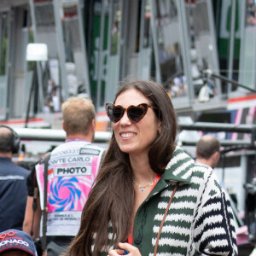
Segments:
[[[160,223],[177,182],[157,255],[237,255],[229,195],[210,167],[196,164],[179,147],[160,181],[137,210],[133,245],[143,256],[154,255]]]

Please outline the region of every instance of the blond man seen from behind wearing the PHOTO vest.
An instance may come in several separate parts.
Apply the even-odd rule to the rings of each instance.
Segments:
[[[48,161],[47,255],[59,255],[79,230],[81,212],[95,181],[104,153],[93,145],[96,128],[95,108],[90,99],[69,98],[61,106],[66,142],[56,147]],[[28,177],[28,197],[23,230],[39,236],[44,209],[44,163],[35,166]],[[35,176],[36,173],[36,176]],[[36,183],[36,186],[34,185]],[[35,190],[38,185],[39,194]],[[35,192],[36,191],[36,192]],[[39,202],[40,199],[40,202]],[[40,204],[33,211],[35,203]],[[44,224],[43,224],[44,225]],[[42,233],[42,225],[40,235]]]

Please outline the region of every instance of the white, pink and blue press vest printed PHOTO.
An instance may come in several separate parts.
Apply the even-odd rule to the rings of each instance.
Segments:
[[[81,140],[63,143],[52,151],[48,166],[47,236],[77,235],[81,213],[103,152],[104,149]],[[43,207],[43,163],[36,166],[36,173],[40,205]]]

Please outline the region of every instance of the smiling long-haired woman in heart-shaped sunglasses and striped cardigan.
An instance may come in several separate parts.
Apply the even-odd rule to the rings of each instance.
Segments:
[[[236,255],[230,202],[212,169],[175,147],[166,90],[127,82],[106,110],[113,137],[69,255]]]

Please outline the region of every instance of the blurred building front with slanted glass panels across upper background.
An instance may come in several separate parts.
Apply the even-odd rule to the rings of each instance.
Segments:
[[[102,112],[128,76],[163,84],[179,115],[231,123],[230,99],[256,93],[255,27],[250,1],[3,0],[0,120],[44,119],[77,95]],[[27,61],[34,43],[47,61]]]

